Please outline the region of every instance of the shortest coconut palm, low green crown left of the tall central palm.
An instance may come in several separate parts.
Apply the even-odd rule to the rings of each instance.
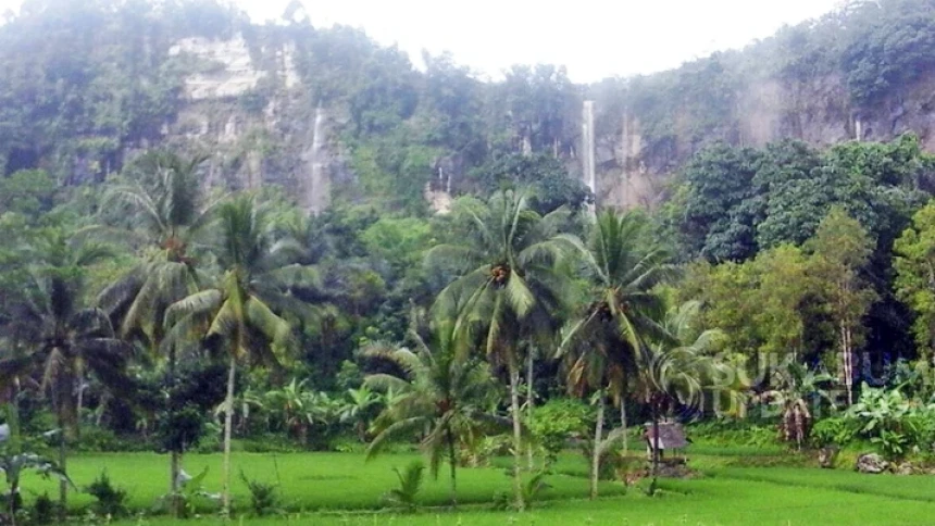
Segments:
[[[454,321],[438,322],[426,341],[411,331],[415,349],[375,342],[364,355],[386,360],[401,375],[375,374],[364,385],[392,392],[389,404],[376,417],[376,433],[367,456],[396,438],[422,436],[422,449],[429,458],[429,471],[438,477],[444,458],[450,469],[451,503],[458,504],[458,451],[482,438],[485,430],[508,426],[485,412],[496,383],[483,361],[469,356],[466,342]]]

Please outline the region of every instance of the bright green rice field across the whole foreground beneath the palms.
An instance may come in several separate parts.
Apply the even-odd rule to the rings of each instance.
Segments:
[[[387,455],[365,463],[359,454],[248,454],[235,455],[236,469],[251,478],[277,481],[285,508],[275,518],[240,518],[234,524],[283,526],[287,524],[337,525],[897,525],[932,524],[935,516],[935,477],[860,475],[850,471],[806,467],[734,467],[706,450],[697,464],[708,465],[705,476],[689,480],[664,480],[662,491],[647,497],[618,484],[604,484],[598,501],[587,493],[586,464],[579,455],[561,459],[562,475],[549,478],[551,489],[534,510],[516,514],[490,511],[495,493],[509,491],[510,480],[498,467],[460,469],[462,508],[448,511],[448,480],[426,480],[421,494],[422,512],[398,514],[374,512],[381,496],[395,484],[394,466],[402,467],[414,455]],[[736,451],[725,459],[737,456]],[[189,455],[186,469],[195,473],[209,466],[208,490],[220,490],[220,456]],[[167,462],[154,454],[100,454],[75,458],[70,472],[82,487],[107,468],[114,483],[128,490],[130,506],[147,510],[165,491]],[[48,490],[54,485],[30,477],[27,491]],[[247,489],[234,483],[235,503],[246,504]],[[626,494],[624,494],[626,493]],[[27,493],[28,494],[28,493]],[[90,503],[89,496],[74,496],[76,509]],[[433,508],[436,506],[436,508]],[[136,518],[125,525],[163,526],[165,517]],[[191,519],[194,525],[222,524],[215,517]]]

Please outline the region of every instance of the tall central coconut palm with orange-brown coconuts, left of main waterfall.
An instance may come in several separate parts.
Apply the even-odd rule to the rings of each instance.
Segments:
[[[559,209],[540,216],[531,209],[528,195],[514,190],[497,192],[487,202],[460,200],[454,212],[470,224],[463,239],[435,247],[427,258],[461,277],[441,291],[433,310],[440,317],[458,315],[457,331],[479,327],[487,356],[506,366],[513,422],[513,485],[516,506],[522,510],[520,343],[546,335],[547,324],[537,320],[560,311],[571,297],[571,280],[558,264],[573,242],[559,233],[569,212]]]

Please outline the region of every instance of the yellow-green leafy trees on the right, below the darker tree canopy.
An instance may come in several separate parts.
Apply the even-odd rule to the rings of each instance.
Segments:
[[[878,298],[865,277],[872,249],[867,230],[835,208],[803,248],[782,245],[745,263],[696,263],[678,293],[706,305],[702,320],[724,331],[737,362],[752,367],[795,355],[828,368],[836,362],[843,372],[850,365],[851,374],[845,354],[861,348]]]

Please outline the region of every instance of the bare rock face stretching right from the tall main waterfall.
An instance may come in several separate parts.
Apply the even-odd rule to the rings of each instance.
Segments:
[[[795,83],[757,79],[735,91],[732,99],[733,110],[714,124],[695,115],[693,105],[673,109],[668,135],[654,139],[652,133],[660,133],[647,129],[639,112],[607,114],[598,101],[599,117],[620,123],[612,133],[597,137],[599,202],[624,208],[658,204],[678,167],[715,141],[762,147],[800,139],[826,147],[848,140],[886,141],[913,132],[927,151],[935,151],[935,73],[870,109],[852,107],[839,75]]]

